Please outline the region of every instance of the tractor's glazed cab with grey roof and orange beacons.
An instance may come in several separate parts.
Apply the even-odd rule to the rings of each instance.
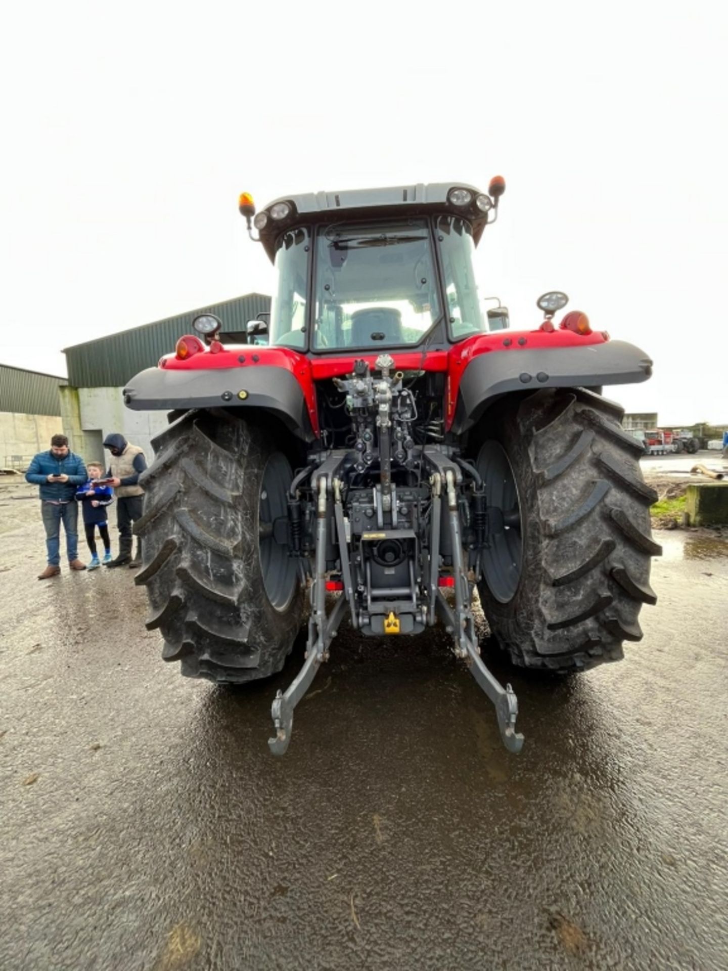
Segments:
[[[269,345],[372,353],[487,332],[473,255],[504,189],[494,179],[490,194],[431,184],[272,203],[253,220],[277,271]],[[247,194],[241,212],[249,224]]]

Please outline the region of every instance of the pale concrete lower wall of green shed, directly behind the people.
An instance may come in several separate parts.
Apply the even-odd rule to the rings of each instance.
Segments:
[[[61,413],[74,452],[86,461],[108,461],[102,443],[110,432],[144,449],[151,464],[151,439],[167,427],[167,413],[133,412],[126,408],[120,387],[62,387]]]

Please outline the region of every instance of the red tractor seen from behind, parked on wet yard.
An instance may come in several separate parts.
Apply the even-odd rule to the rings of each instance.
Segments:
[[[442,622],[513,752],[517,702],[480,656],[476,593],[526,668],[585,671],[643,636],[656,496],[602,387],[652,362],[578,311],[555,322],[561,292],[532,330],[488,328],[473,254],[504,190],[319,192],[257,215],[244,194],[276,269],[269,320],[232,345],[196,318],[124,389],[129,408],[172,410],[136,525],[163,657],[217,683],[266,678],[309,597],[274,753],[345,618],[394,641]]]

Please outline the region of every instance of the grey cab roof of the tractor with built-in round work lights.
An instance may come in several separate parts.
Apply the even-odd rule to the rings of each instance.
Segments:
[[[448,201],[453,188],[468,189],[472,194],[471,204],[455,206]],[[288,229],[297,225],[311,225],[319,222],[344,222],[360,219],[412,218],[443,213],[461,216],[473,227],[476,245],[487,222],[475,203],[480,189],[467,183],[429,183],[411,185],[392,185],[388,188],[354,188],[339,192],[305,192],[302,195],[282,195],[274,199],[261,212],[268,215],[266,226],[260,230],[260,241],[268,256],[273,260],[276,255],[276,240]],[[277,203],[285,202],[291,207],[291,214],[284,219],[271,218],[271,209]]]

